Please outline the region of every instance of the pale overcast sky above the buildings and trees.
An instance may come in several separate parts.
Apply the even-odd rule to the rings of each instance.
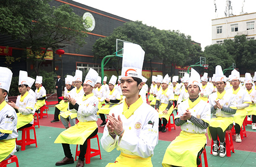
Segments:
[[[211,20],[225,17],[227,0],[74,0],[160,30],[179,30],[201,43],[212,44]],[[215,12],[216,1],[217,12]],[[231,0],[232,13],[256,13],[256,0]]]

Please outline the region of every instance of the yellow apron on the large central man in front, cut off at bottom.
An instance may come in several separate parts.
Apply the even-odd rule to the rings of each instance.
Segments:
[[[151,157],[142,158],[137,155],[128,155],[121,152],[115,163],[108,163],[106,167],[153,167]]]

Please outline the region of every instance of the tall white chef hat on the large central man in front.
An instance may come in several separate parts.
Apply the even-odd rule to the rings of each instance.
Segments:
[[[142,79],[144,55],[145,51],[140,45],[124,42],[121,77],[138,77]]]

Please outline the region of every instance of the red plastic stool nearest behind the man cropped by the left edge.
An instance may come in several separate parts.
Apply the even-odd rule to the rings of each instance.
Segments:
[[[30,130],[31,129],[34,130],[34,139],[30,138]],[[26,146],[31,145],[31,144],[35,144],[35,147],[37,148],[34,125],[31,127],[28,127],[28,128],[22,128],[20,130],[22,131],[21,140],[16,139],[16,144],[21,146],[21,151],[24,151],[26,149]]]

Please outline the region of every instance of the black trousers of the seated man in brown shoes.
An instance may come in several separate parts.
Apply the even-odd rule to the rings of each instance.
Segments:
[[[98,128],[96,128],[94,130],[94,132],[88,136],[88,138],[91,138],[93,137],[94,135],[97,135],[98,133]],[[66,144],[66,143],[62,143],[62,147],[63,147],[63,150],[64,150],[64,154],[67,158],[72,158],[72,153],[71,153],[71,150],[70,150],[70,146],[69,144]],[[79,160],[81,161],[84,161],[84,156],[86,154],[86,150],[87,150],[87,139],[86,141],[84,142],[83,145],[80,145],[80,154],[79,154]]]

